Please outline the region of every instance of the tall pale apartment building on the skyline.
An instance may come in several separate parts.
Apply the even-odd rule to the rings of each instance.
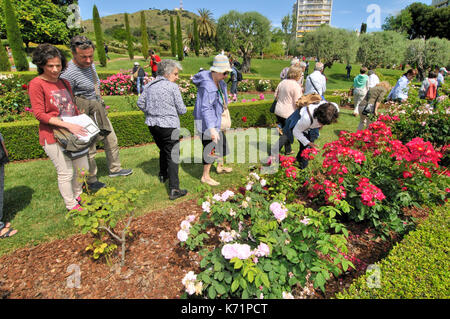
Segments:
[[[331,23],[333,0],[297,0],[294,14],[297,16],[297,37]]]

